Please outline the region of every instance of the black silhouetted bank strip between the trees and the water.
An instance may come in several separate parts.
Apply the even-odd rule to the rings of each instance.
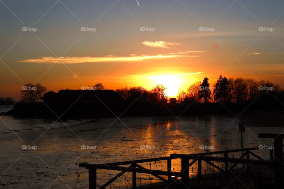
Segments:
[[[245,110],[245,112],[243,112]],[[240,115],[241,114],[241,115]],[[146,102],[135,102],[133,104],[123,103],[119,106],[113,104],[90,105],[81,107],[73,105],[67,107],[50,108],[43,102],[24,103],[19,102],[14,105],[14,109],[0,113],[1,115],[12,115],[19,118],[44,118],[44,119],[91,119],[110,118],[116,116],[136,117],[136,116],[179,116],[179,115],[220,115],[233,116],[246,120],[251,125],[251,120],[257,121],[260,125],[270,125],[271,120],[275,120],[277,126],[283,121],[283,107],[262,107],[259,104],[222,104],[222,103],[193,103],[193,104],[151,104]],[[278,124],[279,123],[279,124]]]

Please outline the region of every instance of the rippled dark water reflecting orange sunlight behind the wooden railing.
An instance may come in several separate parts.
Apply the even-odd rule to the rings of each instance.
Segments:
[[[175,117],[64,120],[68,127],[62,121],[54,123],[54,120],[21,120],[10,116],[1,119],[7,124],[0,123],[0,171],[4,172],[1,178],[11,188],[73,188],[76,172],[81,172],[80,181],[83,188],[87,188],[88,170],[78,166],[82,162],[108,163],[163,157],[172,153],[205,152],[205,149],[199,148],[200,145],[214,146],[213,151],[241,148],[238,121],[216,115],[181,116],[180,120],[175,120]],[[76,122],[82,124],[74,125]],[[49,128],[53,123],[56,127]],[[15,133],[9,131],[8,126]],[[279,127],[246,128],[244,147],[273,144],[271,139],[257,138],[261,132],[278,133]],[[36,146],[37,149],[22,149],[22,145]],[[96,146],[96,149],[81,149],[82,145]],[[264,159],[269,158],[268,151],[260,153]],[[166,170],[165,161],[143,166]],[[172,168],[179,171],[180,162],[173,161]],[[191,174],[195,172],[195,169],[191,170]],[[98,170],[99,185],[117,173]],[[125,176],[130,182],[131,175]],[[149,175],[138,174],[137,177],[149,182]],[[137,182],[139,185],[139,180]],[[128,182],[123,176],[114,184],[122,188]],[[9,188],[7,185],[1,187]]]

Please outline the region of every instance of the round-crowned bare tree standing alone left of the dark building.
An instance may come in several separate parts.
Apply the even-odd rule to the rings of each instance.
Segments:
[[[44,93],[46,93],[46,87],[40,83],[27,83],[22,87],[21,100],[25,102],[35,102],[40,100]]]

